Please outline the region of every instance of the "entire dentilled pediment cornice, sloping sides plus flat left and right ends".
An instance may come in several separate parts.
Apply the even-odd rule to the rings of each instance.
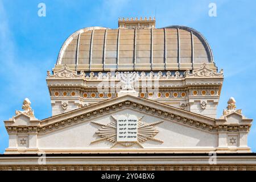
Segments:
[[[156,105],[158,105],[155,109]],[[59,130],[64,127],[76,125],[86,121],[91,121],[92,118],[100,117],[103,114],[110,114],[118,109],[135,109],[155,115],[163,119],[167,119],[172,122],[180,123],[188,127],[204,130],[206,132],[217,131],[249,131],[250,124],[232,124],[225,125],[225,123],[218,123],[216,125],[215,119],[205,117],[203,115],[195,114],[189,111],[178,109],[176,107],[161,104],[159,102],[147,100],[145,98],[134,97],[125,95],[118,98],[98,102],[97,104],[82,107],[69,111],[64,114],[55,115],[51,118],[46,118],[40,121],[39,126],[15,126],[11,123],[6,123],[6,130],[11,133],[48,133],[51,131]]]

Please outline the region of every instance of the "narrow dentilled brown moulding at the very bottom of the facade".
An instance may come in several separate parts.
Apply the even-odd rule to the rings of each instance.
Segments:
[[[0,171],[255,171],[254,164],[1,165]]]

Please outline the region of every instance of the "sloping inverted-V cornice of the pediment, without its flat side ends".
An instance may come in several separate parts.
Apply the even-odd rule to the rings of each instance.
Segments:
[[[102,101],[97,104],[43,119],[40,123],[42,127],[41,131],[47,132],[60,129],[61,127],[72,126],[72,124],[84,122],[88,119],[91,120],[101,115],[117,112],[125,108],[138,110],[140,113],[155,115],[156,117],[178,122],[182,125],[194,127],[195,129],[203,129],[206,131],[214,130],[214,119],[212,118],[127,94],[122,97]]]

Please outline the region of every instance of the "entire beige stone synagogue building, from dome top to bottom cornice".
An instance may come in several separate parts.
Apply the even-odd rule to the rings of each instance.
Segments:
[[[4,121],[0,169],[255,170],[253,120],[232,97],[216,118],[224,74],[203,35],[155,19],[118,23],[65,41],[47,72],[52,117],[36,119],[26,98]]]

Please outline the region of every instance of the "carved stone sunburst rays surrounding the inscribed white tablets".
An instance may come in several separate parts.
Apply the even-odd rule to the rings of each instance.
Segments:
[[[129,115],[129,114],[126,114]],[[96,134],[98,134],[99,137],[101,137],[100,139],[96,139],[91,143],[96,143],[96,142],[100,142],[102,140],[107,140],[109,142],[113,143],[114,147],[117,144],[121,144],[122,146],[125,147],[130,147],[133,144],[138,144],[138,146],[142,147],[142,142],[146,141],[146,140],[152,140],[155,142],[160,142],[163,143],[162,140],[156,139],[154,138],[156,134],[159,133],[158,130],[155,129],[155,125],[158,125],[160,123],[162,123],[163,121],[159,121],[159,122],[154,122],[154,123],[144,123],[142,122],[142,118],[144,116],[142,116],[141,118],[138,118],[138,125],[137,125],[137,138],[134,141],[127,141],[127,142],[120,142],[117,140],[118,134],[118,119],[115,118],[113,115],[111,115],[111,117],[113,118],[113,122],[110,122],[108,124],[102,124],[102,123],[97,123],[97,122],[93,122],[95,125],[101,126],[100,129],[98,129],[96,131]],[[120,131],[120,129],[119,129]],[[111,147],[111,148],[112,148]]]

